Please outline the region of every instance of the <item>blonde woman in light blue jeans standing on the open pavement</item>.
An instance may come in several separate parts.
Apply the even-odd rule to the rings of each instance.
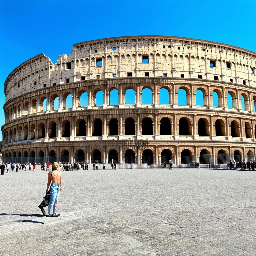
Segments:
[[[50,187],[51,184],[51,187]],[[48,173],[48,183],[46,188],[46,193],[50,187],[50,203],[48,206],[48,215],[47,217],[58,217],[60,216],[59,213],[55,212],[57,207],[57,201],[59,197],[59,193],[61,191],[61,184],[62,184],[62,176],[61,176],[61,169],[58,163],[52,163],[52,170]],[[51,208],[53,206],[53,214],[50,214]]]

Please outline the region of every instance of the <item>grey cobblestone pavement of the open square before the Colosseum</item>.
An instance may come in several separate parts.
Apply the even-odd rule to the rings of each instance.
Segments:
[[[37,207],[47,172],[0,176],[0,255],[255,255],[256,172],[63,172],[60,217]]]

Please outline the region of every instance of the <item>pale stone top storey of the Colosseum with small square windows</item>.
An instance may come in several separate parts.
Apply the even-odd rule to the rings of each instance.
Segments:
[[[114,48],[113,48],[114,47]],[[127,77],[200,78],[256,87],[256,53],[221,43],[182,37],[131,36],[74,44],[55,65],[39,54],[19,65],[4,84],[6,101],[21,94],[80,80]],[[148,56],[148,63],[142,63]],[[97,66],[97,60],[102,65]],[[210,67],[210,61],[215,67]],[[230,68],[227,66],[230,63]],[[146,72],[146,73],[145,73]],[[252,74],[252,72],[254,74]],[[69,79],[69,81],[67,80]]]

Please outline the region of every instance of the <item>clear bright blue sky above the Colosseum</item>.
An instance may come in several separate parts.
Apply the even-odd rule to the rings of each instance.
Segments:
[[[41,52],[55,63],[58,55],[70,54],[75,43],[132,35],[205,39],[256,52],[255,7],[255,0],[3,1],[0,125],[6,77]]]

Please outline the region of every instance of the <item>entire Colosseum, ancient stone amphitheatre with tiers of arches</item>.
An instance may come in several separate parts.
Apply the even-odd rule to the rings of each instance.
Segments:
[[[255,67],[255,52],[170,36],[81,42],[55,64],[41,53],[4,83],[4,159],[255,158]]]

